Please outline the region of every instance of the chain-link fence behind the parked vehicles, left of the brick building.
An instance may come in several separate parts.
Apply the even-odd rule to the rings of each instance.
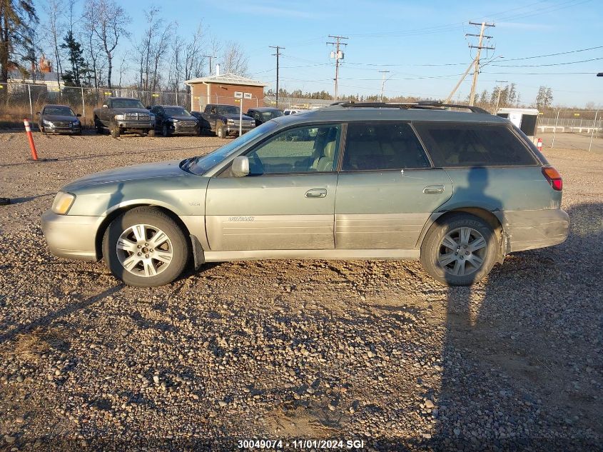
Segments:
[[[93,111],[108,97],[133,97],[144,106],[179,105],[191,108],[191,94],[186,91],[139,91],[126,88],[83,88],[47,84],[0,84],[0,125],[19,126],[21,119],[34,119],[46,104],[69,105],[81,114],[84,126],[93,125]]]

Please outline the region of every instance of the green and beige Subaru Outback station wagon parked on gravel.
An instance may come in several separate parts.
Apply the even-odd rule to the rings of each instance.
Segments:
[[[339,103],[211,154],[78,179],[42,228],[54,255],[104,258],[133,286],[261,258],[418,259],[464,286],[508,253],[562,243],[561,198],[559,173],[507,119],[433,102]]]

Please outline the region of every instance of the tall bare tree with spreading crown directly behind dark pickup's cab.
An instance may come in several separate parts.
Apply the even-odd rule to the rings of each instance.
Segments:
[[[113,51],[122,36],[128,36],[126,26],[130,16],[114,0],[90,0],[88,9],[93,9],[96,21],[93,22],[93,33],[100,41],[107,61],[107,86],[111,88],[111,73],[113,71]]]

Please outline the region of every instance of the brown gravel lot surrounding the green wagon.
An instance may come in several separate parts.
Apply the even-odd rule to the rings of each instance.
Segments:
[[[221,263],[131,288],[51,256],[41,213],[79,176],[223,141],[34,135],[59,161],[0,133],[0,449],[601,450],[603,154],[544,149],[569,239],[472,288],[397,261]]]

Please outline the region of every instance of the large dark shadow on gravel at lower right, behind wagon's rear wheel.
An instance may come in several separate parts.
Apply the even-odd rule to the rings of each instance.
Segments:
[[[437,421],[423,446],[600,450],[603,204],[567,213],[561,245],[515,253],[483,286],[449,288]]]

